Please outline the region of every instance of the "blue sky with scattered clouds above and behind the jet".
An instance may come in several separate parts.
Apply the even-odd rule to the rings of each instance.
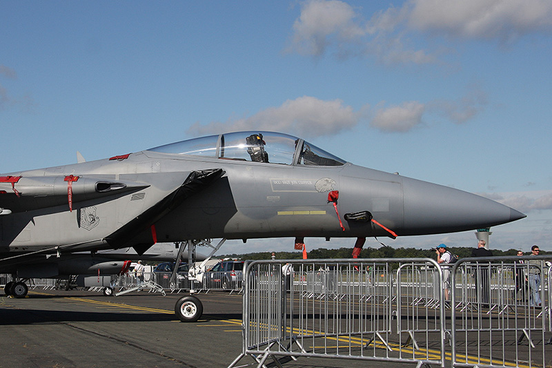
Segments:
[[[552,249],[550,1],[2,0],[0,35],[0,173],[277,130],[512,206],[491,248]]]

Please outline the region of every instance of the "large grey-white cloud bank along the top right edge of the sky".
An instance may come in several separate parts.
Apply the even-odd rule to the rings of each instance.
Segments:
[[[344,1],[307,0],[293,24],[289,52],[320,57],[375,57],[384,64],[435,63],[434,52],[409,46],[418,35],[514,41],[552,31],[549,0],[411,0],[365,21]],[[447,47],[450,47],[447,45]]]

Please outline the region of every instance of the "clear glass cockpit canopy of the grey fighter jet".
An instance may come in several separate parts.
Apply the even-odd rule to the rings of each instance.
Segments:
[[[282,133],[237,132],[166,144],[148,151],[270,164],[342,166],[343,159]]]

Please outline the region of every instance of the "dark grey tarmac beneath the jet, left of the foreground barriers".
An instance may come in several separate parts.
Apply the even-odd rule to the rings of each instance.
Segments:
[[[32,289],[0,297],[0,367],[228,367],[242,352],[242,296],[196,294],[204,314],[180,322],[175,302],[187,293]],[[268,367],[274,362],[268,361]],[[238,366],[255,367],[250,357]],[[286,368],[413,367],[324,358],[289,360]]]

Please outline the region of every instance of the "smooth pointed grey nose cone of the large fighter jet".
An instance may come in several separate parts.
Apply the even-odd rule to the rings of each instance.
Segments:
[[[480,195],[420,180],[405,177],[403,190],[408,235],[484,229],[526,217]]]

